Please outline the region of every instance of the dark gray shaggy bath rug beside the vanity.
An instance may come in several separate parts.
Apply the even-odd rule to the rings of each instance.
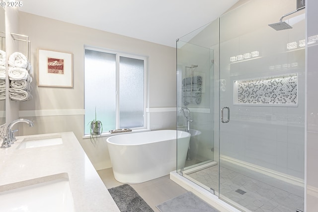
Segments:
[[[128,184],[108,189],[121,212],[154,212]]]

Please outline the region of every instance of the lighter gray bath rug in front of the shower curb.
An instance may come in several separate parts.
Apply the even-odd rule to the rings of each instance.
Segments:
[[[156,207],[160,212],[220,212],[192,192],[182,194]]]

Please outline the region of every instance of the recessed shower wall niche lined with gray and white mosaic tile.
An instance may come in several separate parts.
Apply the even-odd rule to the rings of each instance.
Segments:
[[[297,106],[298,74],[234,81],[234,105]]]

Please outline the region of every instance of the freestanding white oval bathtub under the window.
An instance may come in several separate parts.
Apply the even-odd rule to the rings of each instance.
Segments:
[[[176,139],[178,138],[178,139]],[[108,151],[114,177],[121,183],[142,183],[184,167],[190,134],[159,130],[109,137]]]

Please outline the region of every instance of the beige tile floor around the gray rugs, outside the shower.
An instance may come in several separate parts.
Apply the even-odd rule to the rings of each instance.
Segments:
[[[115,180],[112,168],[98,170],[97,173],[107,189],[123,185]],[[130,185],[155,212],[159,212],[156,208],[159,204],[187,192],[184,188],[170,180],[169,175],[145,183]]]

